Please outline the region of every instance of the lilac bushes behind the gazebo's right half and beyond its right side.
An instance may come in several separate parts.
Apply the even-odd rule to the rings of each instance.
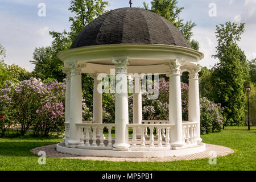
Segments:
[[[188,85],[181,82],[182,118],[188,121]],[[201,134],[220,132],[223,125],[223,108],[207,98],[200,99]],[[158,100],[148,100],[148,93],[142,94],[143,120],[169,120],[169,82],[159,79]],[[129,120],[133,121],[133,96],[129,96]]]

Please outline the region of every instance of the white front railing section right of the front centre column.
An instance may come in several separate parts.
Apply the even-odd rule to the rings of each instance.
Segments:
[[[140,147],[155,147],[154,141],[155,138],[157,140],[157,144],[156,147],[167,147],[168,149],[170,149],[170,129],[172,126],[174,126],[174,124],[129,124],[126,125],[128,128],[132,128],[133,129],[133,137],[132,137],[132,148],[137,148],[138,144],[140,143]],[[150,129],[150,137],[149,137],[149,144],[148,146],[146,146],[146,129]],[[162,144],[162,131],[163,128],[166,129],[166,137],[165,137],[165,144]],[[156,131],[156,136],[154,136],[154,129]],[[141,130],[141,136],[137,136],[137,131]]]

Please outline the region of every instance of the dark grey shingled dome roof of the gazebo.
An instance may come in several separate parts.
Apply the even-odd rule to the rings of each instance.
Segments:
[[[191,48],[167,19],[139,8],[108,11],[77,35],[71,48],[106,44],[164,44]]]

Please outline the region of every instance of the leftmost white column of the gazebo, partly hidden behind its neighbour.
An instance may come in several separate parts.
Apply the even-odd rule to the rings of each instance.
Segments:
[[[70,71],[69,68],[62,69],[63,73],[66,74],[66,93],[65,93],[65,137],[63,139],[66,146],[68,146],[68,138],[69,138],[69,101],[70,101]]]

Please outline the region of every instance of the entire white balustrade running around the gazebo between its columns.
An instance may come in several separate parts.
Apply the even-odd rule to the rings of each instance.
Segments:
[[[78,148],[112,150],[112,129],[115,127],[115,124],[86,122],[76,125],[79,127],[80,133],[79,146],[77,146]],[[127,128],[133,129],[131,148],[134,148],[134,150],[139,150],[139,148],[142,148],[142,150],[158,150],[157,148],[159,148],[159,150],[160,148],[170,149],[170,132],[171,127],[174,125],[175,124],[172,123],[166,123],[166,121],[142,121],[142,124],[126,125]],[[68,125],[65,126],[68,139]],[[108,130],[108,138],[106,139],[104,137],[105,128]],[[186,143],[186,146],[193,146],[197,144],[196,128],[196,122],[183,122],[183,142]],[[138,129],[141,130],[141,136],[137,136]],[[96,136],[97,130],[100,131],[99,138]],[[146,135],[147,131],[150,131],[150,135],[148,134],[148,137]],[[154,131],[156,131],[155,134]]]

